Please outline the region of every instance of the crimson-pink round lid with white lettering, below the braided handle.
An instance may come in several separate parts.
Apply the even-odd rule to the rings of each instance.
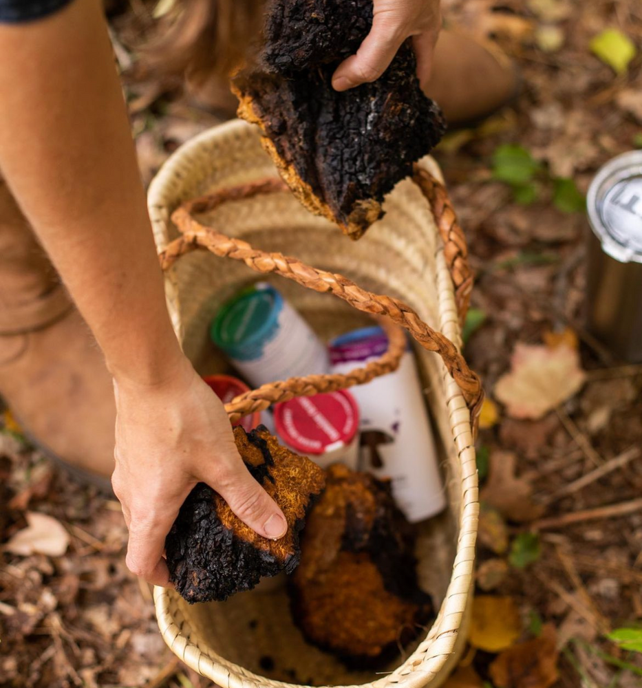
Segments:
[[[350,392],[302,396],[277,404],[277,433],[306,454],[323,454],[350,444],[359,428],[359,407]]]

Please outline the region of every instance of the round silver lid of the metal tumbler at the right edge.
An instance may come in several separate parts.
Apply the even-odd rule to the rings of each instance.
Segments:
[[[586,206],[602,250],[621,263],[642,263],[642,151],[604,165],[591,182]]]

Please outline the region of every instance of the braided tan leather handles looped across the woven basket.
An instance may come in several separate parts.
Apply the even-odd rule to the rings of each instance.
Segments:
[[[439,182],[428,173],[426,175],[427,177],[422,175],[422,184],[430,189],[429,193],[439,194],[439,187],[441,186]],[[421,188],[423,191],[423,187]],[[441,186],[441,188],[443,187]],[[336,297],[350,303],[357,310],[376,316],[381,325],[385,327],[389,338],[389,348],[377,361],[372,361],[365,367],[356,368],[347,374],[290,378],[282,382],[268,383],[259,389],[237,396],[230,404],[226,405],[226,411],[228,411],[231,420],[237,420],[240,416],[267,408],[272,403],[286,401],[295,396],[312,396],[325,391],[345,389],[345,387],[363,384],[379,375],[392,372],[398,367],[400,357],[405,350],[405,336],[399,327],[392,325],[392,323],[396,323],[396,325],[400,325],[410,332],[426,350],[436,352],[442,357],[448,372],[462,390],[464,399],[471,410],[473,426],[476,426],[483,400],[480,379],[468,367],[457,347],[443,334],[436,332],[424,323],[409,305],[392,297],[368,292],[343,275],[318,270],[297,258],[286,257],[278,252],[266,252],[252,248],[247,241],[227,237],[212,227],[200,224],[192,217],[192,213],[212,211],[227,201],[286,190],[288,187],[280,179],[268,178],[250,184],[221,189],[186,202],[172,214],[171,219],[181,231],[182,236],[172,241],[160,252],[159,258],[162,269],[168,270],[180,256],[198,249],[209,250],[220,257],[244,261],[255,272],[263,274],[274,272],[276,275],[292,279],[301,286],[314,291],[331,292]],[[443,198],[441,198],[439,207],[442,209],[442,215],[452,213],[449,202],[444,202]],[[436,219],[438,226],[440,226],[440,219],[437,216]],[[445,227],[446,224],[450,227],[449,233],[453,233],[453,222],[450,217],[447,218],[447,223],[445,222],[443,226]],[[443,236],[442,229],[440,229],[440,233]],[[453,253],[453,255],[455,254]],[[465,263],[465,255],[460,253],[458,257],[459,260],[456,256],[453,265],[457,263],[461,267]],[[463,274],[464,270],[462,270]],[[463,283],[462,281],[461,284]],[[467,289],[468,292],[466,293],[469,294],[470,288],[467,287]],[[461,293],[464,294],[464,292],[465,290],[462,289]],[[467,298],[462,297],[461,303],[467,304]]]

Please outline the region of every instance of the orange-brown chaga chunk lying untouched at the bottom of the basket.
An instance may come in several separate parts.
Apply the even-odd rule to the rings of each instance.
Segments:
[[[291,579],[295,621],[308,641],[364,665],[416,636],[433,606],[418,588],[413,547],[388,483],[330,466]]]

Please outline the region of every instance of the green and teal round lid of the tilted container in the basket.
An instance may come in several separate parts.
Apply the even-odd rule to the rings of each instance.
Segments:
[[[275,334],[282,306],[281,294],[259,282],[222,305],[210,328],[211,339],[233,358],[255,358],[255,347]]]

